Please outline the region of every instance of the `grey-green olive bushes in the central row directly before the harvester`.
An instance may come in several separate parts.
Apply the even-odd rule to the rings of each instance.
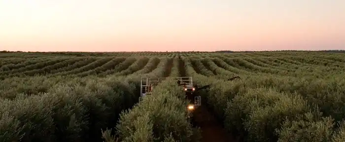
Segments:
[[[117,125],[123,142],[196,142],[199,132],[187,121],[187,102],[175,81],[155,86],[152,95],[121,114]]]

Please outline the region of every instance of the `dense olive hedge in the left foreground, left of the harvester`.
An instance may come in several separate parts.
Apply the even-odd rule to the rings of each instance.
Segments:
[[[0,140],[97,141],[101,129],[115,126],[119,113],[138,99],[135,85],[116,78],[82,81],[55,84],[42,94],[3,99]]]

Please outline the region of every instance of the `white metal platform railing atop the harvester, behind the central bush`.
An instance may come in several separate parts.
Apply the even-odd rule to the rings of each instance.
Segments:
[[[154,86],[167,79],[179,80],[186,87],[193,87],[192,77],[141,77],[140,96],[150,95]]]

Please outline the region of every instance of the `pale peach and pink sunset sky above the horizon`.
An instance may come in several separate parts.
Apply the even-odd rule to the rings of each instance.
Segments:
[[[345,50],[345,0],[0,0],[0,50]]]

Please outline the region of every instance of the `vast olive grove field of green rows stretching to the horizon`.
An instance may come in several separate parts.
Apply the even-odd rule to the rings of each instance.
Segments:
[[[199,126],[142,76],[212,84]],[[345,142],[344,77],[345,53],[0,53],[0,142]]]

